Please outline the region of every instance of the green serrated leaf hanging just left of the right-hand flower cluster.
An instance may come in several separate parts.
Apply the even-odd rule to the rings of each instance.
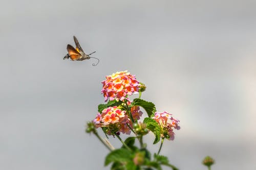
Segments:
[[[157,142],[159,142],[160,135],[161,135],[161,129],[160,129],[159,124],[156,122],[156,120],[154,120],[153,118],[150,118],[150,117],[145,117],[143,120],[143,123],[146,124],[146,128],[151,130],[156,136],[153,144],[156,144]]]

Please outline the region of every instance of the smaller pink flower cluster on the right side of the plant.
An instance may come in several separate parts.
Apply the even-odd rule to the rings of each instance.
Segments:
[[[160,125],[162,129],[161,137],[166,137],[169,140],[174,140],[175,133],[173,132],[174,129],[179,130],[179,122],[180,120],[175,119],[172,117],[172,114],[164,111],[164,112],[156,112],[153,119]],[[166,136],[167,134],[168,136]]]

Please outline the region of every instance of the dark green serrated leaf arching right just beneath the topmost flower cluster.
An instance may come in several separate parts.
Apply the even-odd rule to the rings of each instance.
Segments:
[[[134,99],[133,102],[132,102],[132,106],[140,106],[143,109],[145,109],[148,117],[151,117],[156,112],[156,107],[155,107],[154,103],[147,102],[147,101],[144,101],[142,99],[138,99],[138,98]]]

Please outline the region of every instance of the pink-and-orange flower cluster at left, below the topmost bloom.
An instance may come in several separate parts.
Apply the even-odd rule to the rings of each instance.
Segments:
[[[111,125],[117,125],[118,132],[130,134],[131,130],[127,124],[131,124],[130,118],[125,114],[125,111],[120,110],[117,106],[108,107],[102,110],[102,113],[98,113],[93,120],[95,126],[98,127],[110,127]]]

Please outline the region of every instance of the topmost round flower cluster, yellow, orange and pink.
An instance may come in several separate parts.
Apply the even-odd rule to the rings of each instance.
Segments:
[[[101,83],[103,84],[101,93],[103,93],[105,102],[108,99],[110,101],[115,99],[123,101],[127,98],[127,95],[138,93],[140,86],[135,76],[127,71],[120,71],[111,76],[106,76],[106,80]]]

